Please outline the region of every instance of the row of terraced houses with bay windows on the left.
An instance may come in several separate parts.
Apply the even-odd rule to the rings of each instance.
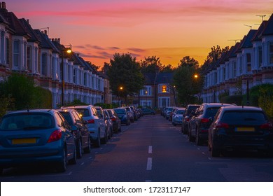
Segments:
[[[49,38],[47,33],[32,29],[29,20],[18,19],[0,2],[0,81],[13,72],[27,73],[36,85],[52,92],[52,108],[74,99],[111,103],[106,78],[80,55],[67,55],[60,38]]]

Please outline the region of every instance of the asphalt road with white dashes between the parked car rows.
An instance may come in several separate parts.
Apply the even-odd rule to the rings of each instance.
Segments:
[[[231,153],[211,158],[160,115],[144,116],[76,165],[4,169],[1,182],[273,182],[273,158]]]

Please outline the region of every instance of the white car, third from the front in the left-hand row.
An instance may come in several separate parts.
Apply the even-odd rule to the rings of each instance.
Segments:
[[[90,133],[90,139],[94,147],[99,148],[101,146],[101,139],[105,143],[106,132],[105,124],[102,116],[99,116],[97,110],[92,105],[88,106],[68,106],[62,107],[62,109],[76,109],[83,120],[87,121],[88,131]]]

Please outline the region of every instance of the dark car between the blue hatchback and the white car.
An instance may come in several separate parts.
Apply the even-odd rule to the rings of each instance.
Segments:
[[[81,158],[83,156],[83,152],[90,153],[91,141],[86,125],[87,121],[83,120],[75,109],[59,109],[57,111],[62,113],[62,116],[64,116],[65,120],[70,126],[75,125],[77,127],[77,130],[73,132],[76,137],[77,158]]]

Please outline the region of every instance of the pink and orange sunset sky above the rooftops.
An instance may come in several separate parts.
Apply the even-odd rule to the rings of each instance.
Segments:
[[[33,29],[49,27],[74,52],[97,66],[116,52],[140,61],[160,57],[177,66],[190,56],[204,63],[210,48],[232,46],[258,29],[273,11],[272,0],[8,0],[6,8],[29,19]],[[251,27],[249,27],[251,26]]]

